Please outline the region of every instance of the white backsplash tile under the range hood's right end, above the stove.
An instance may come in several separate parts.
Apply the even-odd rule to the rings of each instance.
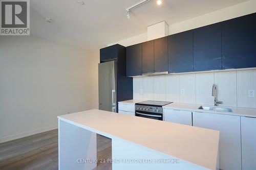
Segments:
[[[153,81],[154,101],[165,101],[165,76],[154,76]]]

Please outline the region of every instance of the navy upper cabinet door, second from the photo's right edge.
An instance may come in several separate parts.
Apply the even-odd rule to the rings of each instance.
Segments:
[[[221,23],[193,30],[194,71],[222,69]]]

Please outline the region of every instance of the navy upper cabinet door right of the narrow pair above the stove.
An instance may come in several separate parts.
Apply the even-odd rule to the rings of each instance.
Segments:
[[[168,72],[193,71],[193,31],[168,36]]]

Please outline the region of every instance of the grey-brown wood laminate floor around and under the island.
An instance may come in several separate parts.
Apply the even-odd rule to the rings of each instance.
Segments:
[[[111,159],[111,139],[97,135],[97,159]],[[58,130],[0,144],[1,170],[57,170]],[[111,163],[97,163],[94,170],[111,170]]]

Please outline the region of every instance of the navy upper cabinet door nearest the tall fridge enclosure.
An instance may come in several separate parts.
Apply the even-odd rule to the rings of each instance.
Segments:
[[[126,47],[126,76],[141,76],[142,44]]]

